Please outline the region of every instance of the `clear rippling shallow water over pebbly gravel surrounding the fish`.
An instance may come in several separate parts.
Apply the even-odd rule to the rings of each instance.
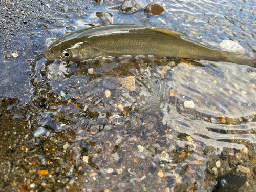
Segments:
[[[41,55],[53,38],[87,24],[103,25],[95,12],[107,11],[113,13],[114,23],[179,30],[210,47],[219,48],[222,40],[231,39],[244,47],[246,55],[256,57],[253,1],[160,3],[165,14],[159,17],[149,17],[143,10],[110,10],[121,4],[118,1],[28,4],[38,12],[25,14],[30,20],[17,20],[29,26],[2,32],[6,36],[1,42],[1,137],[3,143],[14,140],[10,146],[1,145],[6,145],[3,189],[220,191],[213,189],[218,178],[232,174],[242,179],[228,181],[229,191],[242,186],[239,191],[253,191],[254,68],[166,58],[66,63]],[[78,16],[79,10],[84,15]],[[195,107],[186,108],[185,101],[193,101]],[[40,126],[47,134],[34,139]],[[14,157],[20,147],[26,153]],[[24,166],[17,170],[24,158]],[[251,175],[238,165],[248,167]]]

